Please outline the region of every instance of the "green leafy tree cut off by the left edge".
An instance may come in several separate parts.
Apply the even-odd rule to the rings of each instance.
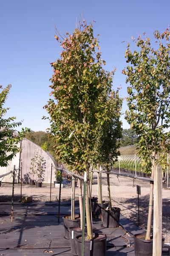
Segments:
[[[8,161],[20,151],[19,143],[23,140],[28,129],[22,128],[22,131],[16,131],[15,128],[20,126],[21,122],[14,122],[16,117],[4,118],[9,108],[4,108],[3,105],[7,99],[11,85],[6,88],[0,86],[0,166],[8,166]]]

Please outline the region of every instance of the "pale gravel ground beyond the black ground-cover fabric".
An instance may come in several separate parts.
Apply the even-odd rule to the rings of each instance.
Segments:
[[[138,224],[138,199],[136,194],[136,185],[141,186],[141,195],[139,196],[140,204],[140,226],[146,229],[147,212],[149,204],[150,183],[143,180],[134,180],[129,177],[116,177],[111,175],[111,195],[113,206],[120,207],[121,213],[127,218]],[[94,177],[92,195],[97,195],[96,177]],[[105,174],[102,177],[102,195],[104,200],[108,200],[107,180]],[[44,184],[42,188],[36,188],[23,184],[23,195],[32,195],[35,201],[50,200],[50,185]],[[0,187],[0,201],[11,201],[12,184],[2,183]],[[20,184],[15,184],[14,200],[20,200]],[[59,189],[52,186],[51,200],[58,200]],[[75,197],[78,199],[78,188],[76,188]],[[163,189],[163,212],[162,212],[162,233],[165,237],[165,242],[170,243],[170,189]],[[71,199],[71,188],[66,183],[62,188],[62,200]]]

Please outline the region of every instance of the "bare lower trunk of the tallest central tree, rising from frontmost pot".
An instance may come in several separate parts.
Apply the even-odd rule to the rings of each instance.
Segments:
[[[88,196],[88,183],[86,184],[85,212],[86,212],[88,239],[92,239],[93,234],[92,234],[92,223],[91,223],[91,215],[90,215],[89,196]]]

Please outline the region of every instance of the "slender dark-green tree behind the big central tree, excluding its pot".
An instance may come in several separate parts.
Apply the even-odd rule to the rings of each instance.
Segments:
[[[106,166],[109,209],[112,210],[111,190],[109,172],[111,165],[117,160],[119,155],[119,139],[122,137],[122,122],[120,121],[122,99],[119,98],[119,90],[112,91],[108,95],[105,108],[105,122],[102,125],[102,135],[99,145],[99,163]]]

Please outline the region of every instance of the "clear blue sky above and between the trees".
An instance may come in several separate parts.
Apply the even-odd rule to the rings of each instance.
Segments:
[[[23,126],[45,131],[48,121],[43,106],[49,99],[50,62],[62,49],[54,39],[59,32],[73,32],[80,15],[87,22],[95,20],[105,68],[116,67],[113,88],[121,86],[126,96],[126,43],[143,32],[153,38],[153,31],[163,32],[170,25],[169,0],[0,0],[0,84],[12,84],[6,106],[8,116],[24,120]],[[126,102],[123,103],[123,112]],[[129,125],[122,116],[123,128]]]

